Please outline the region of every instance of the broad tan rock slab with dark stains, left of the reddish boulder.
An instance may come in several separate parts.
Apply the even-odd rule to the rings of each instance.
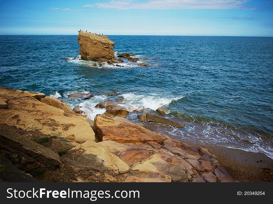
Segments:
[[[0,87],[0,97],[9,103],[8,109],[0,110],[2,124],[77,142],[95,139],[85,116],[66,114],[63,109],[28,97],[20,90]]]

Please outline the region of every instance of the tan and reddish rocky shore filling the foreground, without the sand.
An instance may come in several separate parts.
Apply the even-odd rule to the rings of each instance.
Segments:
[[[125,118],[90,121],[42,93],[0,88],[1,154],[45,182],[235,182],[207,149]]]

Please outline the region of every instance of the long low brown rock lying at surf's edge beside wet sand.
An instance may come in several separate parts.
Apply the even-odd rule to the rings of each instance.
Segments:
[[[185,124],[181,124],[181,123],[177,123],[173,120],[169,120],[167,118],[162,118],[158,115],[155,114],[141,114],[137,116],[140,120],[140,122],[144,122],[144,121],[150,121],[150,122],[154,122],[154,123],[162,123],[162,124],[167,124],[167,125],[171,125],[173,127],[177,127],[177,128],[184,128]]]

